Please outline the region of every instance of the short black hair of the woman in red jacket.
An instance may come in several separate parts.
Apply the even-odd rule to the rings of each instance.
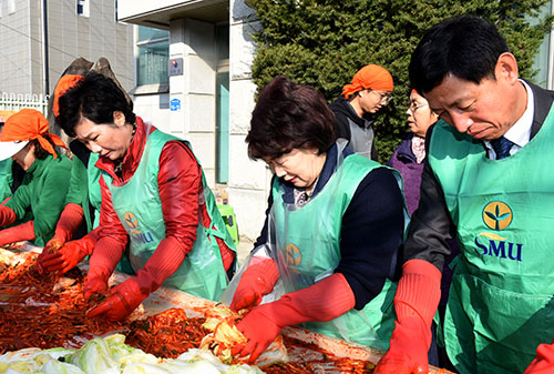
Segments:
[[[69,89],[60,99],[60,115],[55,118],[69,137],[74,138],[74,127],[84,117],[94,123],[113,123],[113,113],[120,111],[125,120],[135,123],[133,107],[125,94],[110,78],[88,72],[84,79]]]

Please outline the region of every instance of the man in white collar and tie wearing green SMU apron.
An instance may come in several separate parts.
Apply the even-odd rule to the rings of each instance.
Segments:
[[[474,16],[434,26],[412,54],[411,83],[442,121],[427,137],[397,326],[376,373],[427,370],[451,237],[461,255],[443,333],[458,372],[522,373],[554,336],[554,93],[517,77],[503,37]]]

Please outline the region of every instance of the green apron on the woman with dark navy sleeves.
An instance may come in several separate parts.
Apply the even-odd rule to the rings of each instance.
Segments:
[[[301,290],[327,275],[339,264],[342,216],[360,182],[381,165],[359,154],[346,159],[339,148],[337,171],[325,188],[302,208],[283,201],[283,185],[275,179],[269,231],[285,293]],[[398,172],[394,175],[401,184]],[[271,246],[273,247],[273,246]],[[309,322],[304,327],[347,342],[387,350],[394,327],[392,299],[397,284],[387,280],[379,295],[361,311],[350,310],[329,322]],[[325,300],[321,301],[325,303]]]

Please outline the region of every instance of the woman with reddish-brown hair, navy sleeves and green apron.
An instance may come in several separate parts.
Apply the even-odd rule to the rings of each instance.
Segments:
[[[286,77],[260,91],[252,114],[248,155],[275,175],[264,229],[226,297],[249,311],[237,325],[248,342],[233,352],[249,362],[296,324],[387,346],[404,228],[401,178],[336,142],[334,121],[320,92]],[[260,304],[271,292],[283,296]]]

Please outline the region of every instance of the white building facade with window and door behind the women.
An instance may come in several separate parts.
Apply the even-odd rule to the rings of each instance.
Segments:
[[[117,13],[122,21],[168,31],[168,82],[137,82],[131,91],[135,113],[191,142],[208,185],[234,208],[240,235],[256,239],[271,175],[248,159],[245,143],[256,92],[253,10],[243,0],[119,0]],[[145,65],[140,49],[147,42],[138,40],[135,50],[138,81]]]

